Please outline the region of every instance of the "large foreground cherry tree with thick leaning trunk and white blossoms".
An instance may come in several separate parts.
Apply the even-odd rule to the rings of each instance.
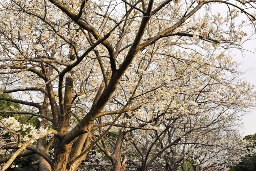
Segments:
[[[214,5],[226,12],[215,13]],[[138,153],[160,149],[147,161],[143,153],[137,158],[148,169],[168,152],[147,149],[147,141],[204,164],[191,150],[178,151],[182,143],[212,145],[207,137],[225,136],[220,130],[228,133],[254,106],[254,87],[237,78],[227,52],[242,48],[245,24],[255,29],[255,8],[253,1],[219,0],[2,1],[1,93],[13,98],[0,100],[22,110],[1,113],[39,124],[1,119],[1,170],[31,154],[39,170],[76,170],[96,148],[106,165],[123,170],[133,160],[122,153],[129,145]],[[237,24],[240,13],[245,20]]]

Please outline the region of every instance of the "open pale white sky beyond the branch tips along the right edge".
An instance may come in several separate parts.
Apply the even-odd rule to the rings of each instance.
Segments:
[[[217,13],[220,12],[223,16],[226,16],[227,6],[221,4],[213,4],[211,6],[212,12]],[[236,18],[236,23],[240,24],[242,20],[245,20],[245,25],[251,23],[249,19],[240,14],[238,18]],[[247,38],[256,34],[256,31],[253,30],[252,26],[247,26],[242,29],[244,32],[248,33]],[[245,78],[251,84],[256,86],[256,35],[254,35],[254,39],[248,40],[243,44],[243,48],[249,51],[243,51],[241,53],[238,49],[233,49],[229,54],[234,57],[234,61],[241,63],[239,66],[239,70],[245,72],[244,75],[241,75],[241,78]],[[243,136],[255,134],[256,133],[256,108],[251,110],[250,113],[246,114],[242,118],[243,125],[240,129],[240,132]]]

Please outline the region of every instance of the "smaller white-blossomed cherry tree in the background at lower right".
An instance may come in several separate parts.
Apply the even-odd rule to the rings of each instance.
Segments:
[[[185,81],[179,79],[176,81],[176,85],[179,86],[175,89],[172,84],[172,87],[163,86],[162,90],[154,92],[160,91],[159,94],[164,93],[166,98],[172,97],[171,99],[148,101],[136,112],[127,113],[127,117],[122,120],[128,125],[137,124],[140,127],[119,130],[115,136],[116,142],[113,142],[113,138],[105,137],[101,145],[98,144],[110,160],[110,152],[115,153],[117,147],[122,145],[121,138],[126,141],[122,147],[121,157],[128,159],[129,167],[138,170],[177,170],[187,162],[191,162],[195,169],[225,167],[231,162],[239,161],[238,156],[246,154],[246,143],[241,142],[242,138],[238,136],[236,124],[239,123],[245,105],[248,108],[251,105],[248,102],[251,101],[253,94],[241,98],[250,86],[244,83],[239,85],[237,80],[223,79],[224,76],[221,80],[215,80],[211,76],[201,75],[202,73],[194,68],[187,68],[184,73],[186,72],[189,73],[187,77],[193,78],[185,78]],[[218,73],[228,75],[226,71],[218,70]],[[190,80],[205,84],[195,92],[195,86],[198,85]],[[233,86],[240,91],[233,91]],[[174,92],[175,95],[172,95]],[[233,98],[231,103],[228,102],[229,99],[224,100],[224,94],[229,94],[228,96]],[[147,129],[141,129],[142,126]],[[115,130],[112,130],[112,133],[114,132]]]

